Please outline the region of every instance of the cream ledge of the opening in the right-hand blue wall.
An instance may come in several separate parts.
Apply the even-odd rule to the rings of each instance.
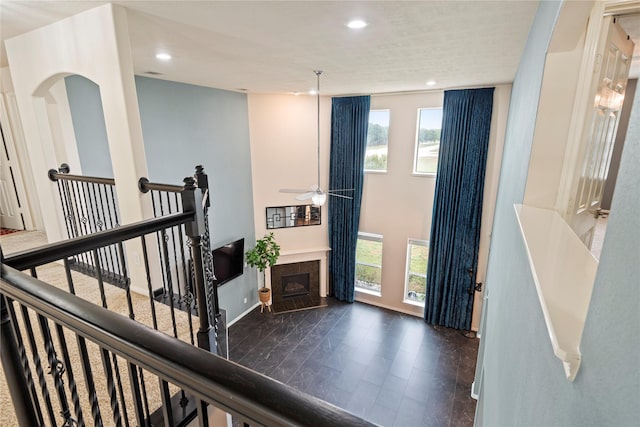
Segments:
[[[573,381],[598,261],[556,211],[514,208],[553,352]]]

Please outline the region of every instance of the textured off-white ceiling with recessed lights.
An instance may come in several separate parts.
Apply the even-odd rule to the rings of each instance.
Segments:
[[[104,1],[0,1],[6,38]],[[136,74],[249,92],[327,95],[511,82],[537,1],[119,1]],[[348,29],[353,18],[369,23]],[[155,58],[158,50],[171,62]],[[3,52],[3,65],[6,57]],[[148,72],[161,73],[159,75]],[[427,80],[435,80],[433,87]]]

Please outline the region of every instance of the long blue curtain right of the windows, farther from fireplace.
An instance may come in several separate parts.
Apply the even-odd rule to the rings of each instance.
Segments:
[[[471,327],[493,90],[444,93],[425,301],[433,325]]]

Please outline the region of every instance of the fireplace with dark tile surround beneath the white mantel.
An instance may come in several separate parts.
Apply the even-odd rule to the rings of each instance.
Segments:
[[[271,295],[276,312],[319,305],[320,261],[271,267]]]

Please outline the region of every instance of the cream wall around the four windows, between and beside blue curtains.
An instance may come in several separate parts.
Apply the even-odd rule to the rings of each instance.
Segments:
[[[485,178],[478,281],[484,281],[493,207],[500,173],[510,85],[494,94]],[[356,299],[423,316],[424,308],[403,302],[408,239],[429,240],[435,176],[413,175],[418,109],[442,108],[444,93],[396,94],[371,97],[372,110],[390,110],[386,173],[366,173],[360,231],[383,235],[382,290],[375,296],[356,289]],[[476,295],[472,328],[477,330],[482,294]]]

